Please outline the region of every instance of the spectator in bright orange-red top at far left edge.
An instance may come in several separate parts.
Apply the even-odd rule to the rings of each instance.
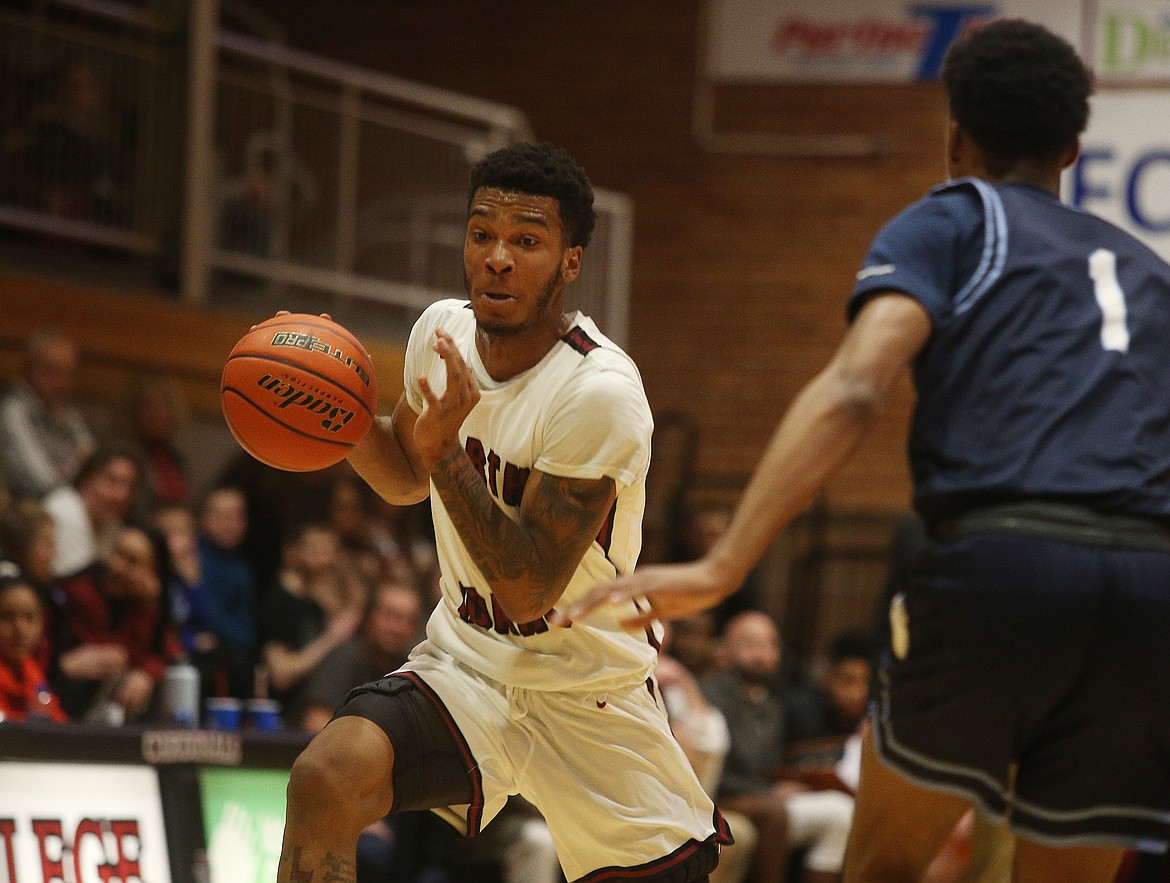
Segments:
[[[0,722],[67,720],[35,654],[44,610],[12,561],[0,561]]]

